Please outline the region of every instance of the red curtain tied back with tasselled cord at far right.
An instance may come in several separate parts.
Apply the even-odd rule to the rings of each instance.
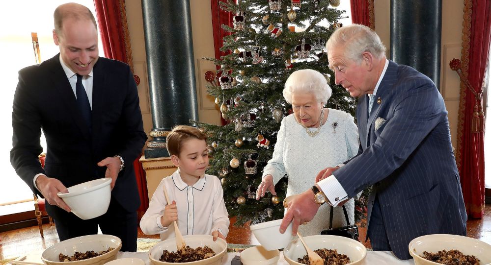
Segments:
[[[491,0],[464,0],[462,77],[482,91],[490,48]],[[456,160],[470,218],[484,214],[484,132],[471,132],[476,96],[461,82]]]

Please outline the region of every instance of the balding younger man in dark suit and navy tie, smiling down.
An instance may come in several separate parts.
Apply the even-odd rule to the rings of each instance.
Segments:
[[[19,71],[12,111],[10,161],[34,193],[46,198],[61,241],[82,235],[119,237],[122,251],[136,251],[140,205],[133,161],[147,139],[130,67],[99,58],[97,25],[85,6],[55,10],[53,38],[60,53]],[[45,168],[38,155],[46,137]],[[109,177],[108,212],[82,220],[56,193]]]

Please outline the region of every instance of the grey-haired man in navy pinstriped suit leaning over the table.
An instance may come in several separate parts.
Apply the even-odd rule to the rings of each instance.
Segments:
[[[359,97],[359,152],[321,171],[316,185],[289,204],[280,231],[293,219],[295,234],[325,201],[339,206],[374,185],[367,231],[374,250],[392,250],[407,260],[409,241],[416,237],[465,235],[467,215],[447,111],[435,84],[387,60],[379,36],[363,25],[337,29],[327,55],[336,84]]]

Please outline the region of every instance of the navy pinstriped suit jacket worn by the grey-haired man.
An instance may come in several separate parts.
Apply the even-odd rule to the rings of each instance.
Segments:
[[[359,98],[356,110],[359,153],[334,173],[348,196],[374,185],[368,220],[376,194],[390,247],[400,259],[410,258],[408,244],[416,237],[465,235],[467,215],[447,111],[435,84],[389,61],[370,116],[367,101]],[[379,117],[386,122],[376,130]]]

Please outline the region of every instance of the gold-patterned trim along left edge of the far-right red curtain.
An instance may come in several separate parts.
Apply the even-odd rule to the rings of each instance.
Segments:
[[[472,20],[472,0],[464,0],[464,22],[462,23],[462,57],[461,71],[462,77],[460,83],[460,100],[459,100],[459,116],[457,118],[457,149],[455,152],[455,162],[457,168],[461,168],[461,147],[462,135],[464,133],[464,116],[465,116],[465,97],[467,96],[463,79],[466,79],[469,74],[469,46],[470,46],[470,27]]]

